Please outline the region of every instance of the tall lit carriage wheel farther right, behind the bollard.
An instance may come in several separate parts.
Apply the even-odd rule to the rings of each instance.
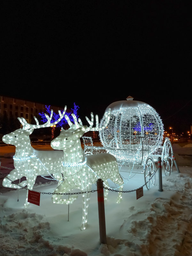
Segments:
[[[163,151],[162,151],[162,166],[164,169],[165,175],[171,175],[172,166],[173,166],[173,149],[170,140],[165,140]]]

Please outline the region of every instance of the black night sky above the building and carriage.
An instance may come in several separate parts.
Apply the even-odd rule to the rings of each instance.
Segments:
[[[148,103],[165,129],[192,124],[191,1],[4,1],[0,95],[79,106]],[[82,118],[83,119],[83,118]]]

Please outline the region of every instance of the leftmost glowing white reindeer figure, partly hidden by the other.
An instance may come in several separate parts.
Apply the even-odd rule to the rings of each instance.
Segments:
[[[30,143],[29,135],[33,132],[34,129],[50,127],[60,122],[60,120],[65,115],[67,106],[63,113],[61,114],[59,110],[59,119],[54,123],[51,123],[53,111],[51,110],[50,117],[45,114],[47,122],[45,124],[39,124],[38,120],[34,116],[36,125],[28,124],[24,118],[18,117],[20,123],[23,125],[22,129],[18,129],[14,132],[11,132],[7,135],[4,135],[2,140],[4,143],[12,144],[16,147],[15,155],[13,156],[13,164],[15,169],[13,169],[6,177],[4,178],[2,185],[9,188],[20,188],[17,185],[13,184],[12,181],[20,180],[22,177],[26,177],[26,180],[19,183],[20,186],[25,187],[27,185],[28,189],[32,189],[36,177],[41,176],[51,176],[54,174],[54,179],[62,182],[63,176],[62,171],[62,162],[63,162],[63,153],[62,151],[41,151],[35,150]],[[12,181],[11,181],[12,180]],[[28,206],[28,190],[27,198],[24,204],[24,207]]]

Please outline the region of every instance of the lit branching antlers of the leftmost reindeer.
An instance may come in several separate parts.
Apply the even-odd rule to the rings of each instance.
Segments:
[[[44,113],[44,115],[47,118],[47,122],[45,124],[39,124],[39,122],[38,122],[38,120],[37,120],[37,118],[35,116],[34,116],[34,119],[36,121],[36,124],[28,124],[27,121],[25,120],[25,118],[23,118],[23,117],[18,117],[18,119],[19,119],[20,123],[23,125],[23,129],[24,130],[27,130],[29,128],[37,129],[37,128],[43,128],[43,127],[50,127],[50,126],[53,126],[53,125],[58,124],[60,122],[60,120],[65,115],[66,109],[67,109],[67,106],[65,106],[62,114],[61,114],[60,110],[58,111],[60,117],[54,123],[51,123],[51,119],[52,119],[52,116],[53,116],[53,110],[51,110],[51,115],[50,116],[48,116],[46,113]]]

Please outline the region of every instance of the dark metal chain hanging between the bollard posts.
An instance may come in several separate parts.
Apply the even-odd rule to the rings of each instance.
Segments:
[[[1,166],[1,167],[2,167],[2,168],[6,168],[6,169],[13,170],[13,169],[11,169],[11,168],[7,168],[7,167],[4,167],[4,166]],[[158,168],[157,168],[156,171],[153,173],[153,175],[150,177],[150,179],[149,179],[143,186],[141,186],[140,188],[143,188],[143,187],[153,178],[153,176],[156,174],[157,170],[158,170]],[[15,181],[9,179],[9,178],[8,178],[7,176],[5,176],[5,174],[2,173],[1,171],[0,171],[0,173],[1,173],[6,179],[10,180],[13,184],[17,185],[18,187],[24,188],[24,189],[26,189],[26,190],[30,190],[30,189],[28,189],[28,188],[22,187],[22,186],[19,185],[18,183],[15,183]],[[107,189],[107,190],[110,190],[110,191],[113,191],[113,192],[121,192],[121,193],[129,193],[129,192],[136,191],[137,189],[140,189],[140,188],[137,188],[137,189],[133,189],[133,190],[129,190],[129,191],[120,191],[120,190],[115,190],[115,189],[106,188],[106,187],[103,187],[103,188],[105,188],[105,189]],[[100,188],[100,189],[101,189],[101,188]],[[79,195],[79,194],[93,193],[93,192],[96,192],[96,191],[98,191],[98,190],[100,190],[100,189],[92,189],[91,191],[74,192],[74,193],[54,193],[54,192],[51,193],[51,192],[39,192],[39,191],[35,191],[35,190],[32,190],[32,191],[38,192],[38,193],[41,193],[41,194],[47,194],[47,195]]]

